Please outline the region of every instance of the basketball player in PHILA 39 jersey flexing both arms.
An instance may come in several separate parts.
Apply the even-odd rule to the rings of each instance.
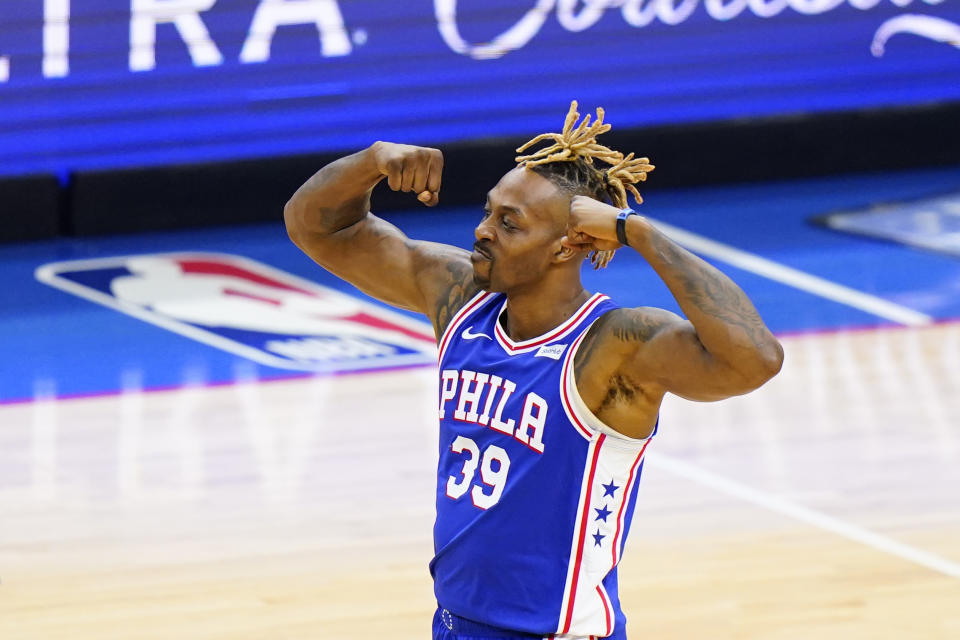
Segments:
[[[617,564],[643,455],[667,392],[756,389],[783,350],[747,296],[627,208],[653,167],[597,142],[590,116],[518,149],[487,194],[472,253],[407,238],[370,193],[438,202],[436,149],[377,142],[290,199],[291,239],[328,271],[419,311],[440,348],[435,640],[626,637]],[[686,315],[620,307],[583,288],[589,256],[629,247]]]

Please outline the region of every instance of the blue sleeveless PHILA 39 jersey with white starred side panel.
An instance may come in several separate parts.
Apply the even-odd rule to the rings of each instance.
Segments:
[[[616,567],[649,438],[603,424],[573,375],[587,329],[614,308],[595,294],[515,342],[506,296],[481,292],[441,336],[430,563],[441,607],[544,637],[626,637]]]

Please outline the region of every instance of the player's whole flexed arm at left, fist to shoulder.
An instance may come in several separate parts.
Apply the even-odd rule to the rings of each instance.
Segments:
[[[387,178],[434,206],[442,171],[437,149],[376,142],[321,169],[284,207],[287,233],[304,253],[364,293],[425,314],[438,338],[478,291],[469,254],[407,238],[370,213],[370,194]]]

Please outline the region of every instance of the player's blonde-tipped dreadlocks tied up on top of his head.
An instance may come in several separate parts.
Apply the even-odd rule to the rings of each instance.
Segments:
[[[517,153],[544,140],[553,140],[553,144],[529,155],[517,156],[518,166],[536,171],[571,193],[589,195],[609,202],[618,209],[627,206],[627,191],[633,194],[638,203],[643,202],[634,185],[644,182],[647,173],[653,171],[650,159],[634,158],[633,153],[624,156],[597,142],[597,136],[610,130],[610,125],[603,122],[601,107],[597,107],[597,118],[593,124],[590,123],[590,114],[587,114],[583,122],[574,128],[579,119],[577,101],[574,100],[570,103],[560,133],[541,133],[517,148]],[[606,170],[599,169],[594,165],[594,160],[610,166]],[[594,251],[590,254],[594,268],[607,266],[612,258],[613,251]]]

